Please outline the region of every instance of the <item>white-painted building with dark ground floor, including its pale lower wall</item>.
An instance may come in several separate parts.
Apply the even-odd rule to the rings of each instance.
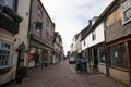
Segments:
[[[99,72],[106,74],[106,58],[105,53],[103,53],[103,45],[105,42],[104,23],[98,23],[96,26],[94,24],[92,24],[86,33],[86,37],[82,40],[82,51],[87,51],[87,59],[91,66],[98,67]]]

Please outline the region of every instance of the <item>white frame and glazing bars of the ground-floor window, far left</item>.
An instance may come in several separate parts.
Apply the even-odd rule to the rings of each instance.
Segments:
[[[2,44],[4,45],[4,46],[2,46]],[[5,46],[5,45],[8,45],[8,46]],[[9,47],[10,46],[10,47]],[[5,61],[8,62],[7,64],[0,64],[0,70],[2,70],[2,69],[7,69],[7,67],[11,67],[11,57],[12,57],[12,44],[11,42],[7,42],[7,41],[3,41],[3,40],[0,40],[0,50],[4,50],[4,53],[2,54],[2,53],[0,53],[0,57],[1,57],[1,59],[0,59],[0,62],[3,62],[4,61],[4,63],[5,63]],[[9,54],[5,54],[5,51],[9,51]],[[2,58],[4,55],[4,58]],[[5,57],[8,57],[7,59],[8,60],[5,60]],[[2,60],[3,59],[3,60]]]

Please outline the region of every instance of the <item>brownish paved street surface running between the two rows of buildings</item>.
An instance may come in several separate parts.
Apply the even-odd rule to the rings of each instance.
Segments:
[[[22,84],[8,87],[124,87],[105,75],[78,74],[72,65],[62,61],[58,65],[34,71]]]

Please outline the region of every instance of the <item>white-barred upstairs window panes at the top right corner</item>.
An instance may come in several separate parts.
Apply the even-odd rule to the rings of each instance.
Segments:
[[[131,21],[131,0],[126,0],[122,3],[122,15],[123,15],[123,24]]]

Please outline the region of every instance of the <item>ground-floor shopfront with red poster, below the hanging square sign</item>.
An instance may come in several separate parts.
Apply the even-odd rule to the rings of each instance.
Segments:
[[[35,35],[31,37],[28,66],[47,66],[52,63],[53,47]]]

